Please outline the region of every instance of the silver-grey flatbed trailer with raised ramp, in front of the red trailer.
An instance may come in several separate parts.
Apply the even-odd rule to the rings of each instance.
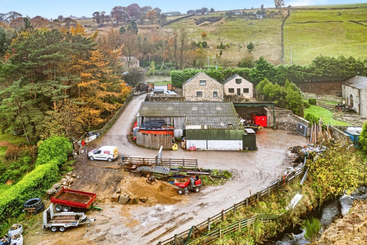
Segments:
[[[57,230],[64,232],[68,227],[76,227],[80,224],[88,224],[90,226],[91,222],[97,219],[87,218],[84,213],[74,213],[74,212],[62,212],[54,213],[53,204],[43,212],[43,229],[50,228],[52,232]]]

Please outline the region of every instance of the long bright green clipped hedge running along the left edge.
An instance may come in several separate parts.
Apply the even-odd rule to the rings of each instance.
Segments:
[[[0,195],[0,223],[7,225],[7,219],[19,215],[23,203],[33,197],[42,197],[59,179],[57,160],[37,166],[21,181]]]

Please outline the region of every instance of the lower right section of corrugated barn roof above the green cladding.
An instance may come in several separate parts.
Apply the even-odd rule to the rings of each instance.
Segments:
[[[186,129],[244,129],[235,116],[188,116]]]

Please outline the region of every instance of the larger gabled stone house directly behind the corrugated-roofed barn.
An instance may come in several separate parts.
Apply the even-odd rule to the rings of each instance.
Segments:
[[[223,84],[199,72],[182,83],[182,93],[185,101],[222,101]]]

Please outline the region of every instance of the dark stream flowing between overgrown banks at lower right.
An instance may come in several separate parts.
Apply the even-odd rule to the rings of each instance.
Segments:
[[[324,228],[330,226],[330,224],[337,218],[342,218],[349,212],[352,207],[352,202],[356,199],[367,198],[367,187],[362,186],[347,196],[342,195],[339,199],[325,202],[320,209],[313,210],[307,216],[307,218],[315,217],[319,219],[322,228],[320,233],[323,232]],[[291,239],[289,235],[293,233],[294,238]],[[265,242],[265,245],[304,245],[310,242],[304,238],[305,230],[301,226],[295,226],[286,228],[282,233],[276,235]]]

